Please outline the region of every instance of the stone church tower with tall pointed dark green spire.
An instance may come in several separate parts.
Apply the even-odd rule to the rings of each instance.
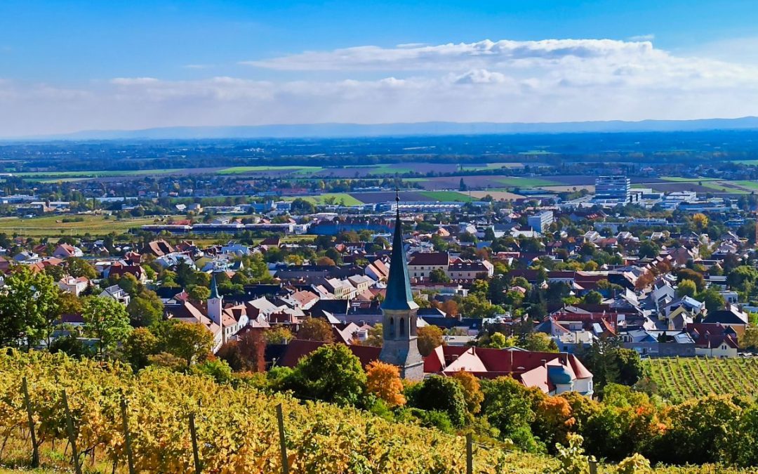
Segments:
[[[381,303],[384,344],[379,359],[400,368],[400,376],[410,380],[424,378],[424,359],[418,353],[416,335],[416,312],[411,280],[408,276],[406,251],[402,245],[402,222],[400,221],[400,198],[396,195],[395,234],[392,240],[390,275],[387,278],[387,294]]]

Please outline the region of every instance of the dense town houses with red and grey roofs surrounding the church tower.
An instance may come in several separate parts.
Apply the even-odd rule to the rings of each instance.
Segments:
[[[340,265],[307,260],[298,264],[267,263],[271,283],[243,284],[242,291],[234,292],[224,291],[218,280],[221,275],[226,280],[243,271],[241,257],[265,256],[274,249],[315,250],[315,244],[285,243],[278,237],[266,238],[256,245],[230,241],[211,246],[198,246],[192,240],[172,245],[156,239],[133,248],[121,247],[118,256],[111,256],[102,241],[80,246],[61,243],[27,247],[13,256],[0,256],[0,272],[8,272],[13,265],[29,265],[43,272],[50,266],[63,266],[67,259],[84,258],[95,269],[97,278],[64,275],[58,281],[61,289],[78,296],[92,294],[92,288],[96,288],[95,294],[124,305],[130,302],[124,288],[118,284],[96,285],[114,275],[133,275],[155,289],[164,305],[164,318],[208,328],[215,338],[214,350],[249,331],[286,327],[296,333],[306,319],[323,319],[330,324],[334,341],[349,346],[362,362],[382,359],[396,363],[407,378],[465,370],[481,377],[512,375],[547,393],[574,390],[591,395],[592,375],[576,354],[603,337],[615,338],[623,347],[646,357],[735,357],[742,352],[740,341],[749,325],[748,312],[753,308],[741,304],[738,293],[728,287],[726,277],[720,276],[723,272],[709,270],[747,262],[751,249],[746,239],[728,231],[718,240],[711,240],[705,232],[677,232],[678,225],[666,219],[612,219],[597,207],[577,205],[568,209],[555,204],[537,199],[518,211],[498,209],[493,216],[438,224],[424,232],[412,228],[402,231],[400,206],[393,208],[394,221],[386,215],[375,219],[318,215],[309,223],[311,230],[321,229],[319,232],[325,235],[368,231],[371,240],[334,243]],[[554,225],[556,218],[583,224],[584,228],[569,235]],[[301,223],[292,220],[283,224],[243,224],[221,218],[208,224],[178,221],[165,225],[221,226],[226,231],[250,230],[251,225],[289,226],[290,230],[277,228],[279,234],[287,234],[300,232],[293,226]],[[653,231],[638,232],[635,228]],[[541,238],[548,233],[552,237]],[[375,237],[392,242],[377,244],[380,240]],[[455,250],[440,250],[435,244],[440,240],[447,244],[441,248]],[[493,240],[501,241],[496,249]],[[508,240],[507,245],[502,245],[502,240]],[[656,243],[655,248],[660,249],[656,255],[641,256],[638,250],[646,241]],[[592,261],[587,249],[613,256],[613,263],[587,265]],[[707,250],[707,257],[701,256],[703,250]],[[569,262],[591,269],[566,269],[562,264]],[[499,264],[503,266],[496,272]],[[159,272],[180,265],[213,275],[207,300],[194,300],[186,288],[161,285],[161,281],[148,276],[156,269]],[[703,284],[722,296],[722,307],[708,309],[678,291],[675,272],[696,265],[706,269]],[[562,269],[549,269],[555,267]],[[526,281],[528,284],[509,284],[503,290],[517,291],[523,297],[528,296],[530,286],[565,286],[572,297],[570,302],[564,299],[551,303],[541,321],[534,324],[534,331],[555,341],[558,353],[476,347],[486,328],[507,331],[509,325],[518,323],[508,310],[483,318],[478,314],[446,314],[438,309],[441,305],[418,308],[415,304],[418,298],[445,302],[456,296],[466,297],[475,281],[493,278]],[[599,293],[600,301],[584,302],[590,293]],[[384,328],[383,347],[365,344],[377,323]],[[427,325],[445,331],[444,344],[421,357],[415,349],[415,336],[418,328]],[[296,339],[269,351],[268,359],[291,366],[319,344]]]

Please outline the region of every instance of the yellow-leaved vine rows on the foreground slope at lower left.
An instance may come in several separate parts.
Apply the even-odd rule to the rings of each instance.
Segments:
[[[465,472],[465,439],[459,436],[389,422],[357,409],[234,389],[168,369],[149,368],[134,375],[120,363],[42,352],[0,352],[0,435],[27,422],[23,377],[29,382],[41,441],[67,438],[61,397],[65,390],[79,450],[96,449],[120,466],[126,460],[123,394],[136,469],[143,472],[194,472],[190,413],[196,418],[202,472],[281,472],[280,403],[290,472]],[[506,472],[515,462],[518,455],[475,448],[477,472]]]

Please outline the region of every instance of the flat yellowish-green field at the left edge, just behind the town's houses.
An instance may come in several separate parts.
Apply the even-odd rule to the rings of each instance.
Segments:
[[[152,224],[155,216],[146,218],[105,219],[103,215],[68,215],[67,218],[83,218],[79,222],[63,222],[60,215],[38,218],[0,218],[0,232],[11,235],[22,234],[24,237],[52,237],[61,235],[107,235],[129,231],[132,228]]]

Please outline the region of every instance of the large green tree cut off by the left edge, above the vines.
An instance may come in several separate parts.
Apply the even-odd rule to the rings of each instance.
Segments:
[[[20,266],[5,278],[0,294],[0,344],[27,349],[49,341],[52,323],[61,315],[60,289],[44,272]]]

